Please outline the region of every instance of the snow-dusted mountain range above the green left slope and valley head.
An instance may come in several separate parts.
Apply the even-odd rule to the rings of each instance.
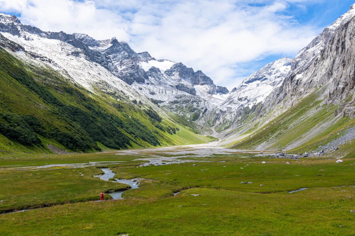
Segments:
[[[270,63],[229,93],[201,70],[157,60],[148,52],[136,53],[116,38],[95,40],[86,34],[45,32],[4,14],[0,14],[0,32],[24,48],[25,52],[16,53],[24,61],[59,70],[93,93],[152,102],[216,136],[233,128],[245,107],[262,102],[290,67],[289,58]]]

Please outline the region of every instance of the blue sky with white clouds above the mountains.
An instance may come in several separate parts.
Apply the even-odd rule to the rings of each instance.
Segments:
[[[116,37],[136,52],[202,70],[229,90],[294,57],[355,0],[0,0],[0,12],[45,31]]]

